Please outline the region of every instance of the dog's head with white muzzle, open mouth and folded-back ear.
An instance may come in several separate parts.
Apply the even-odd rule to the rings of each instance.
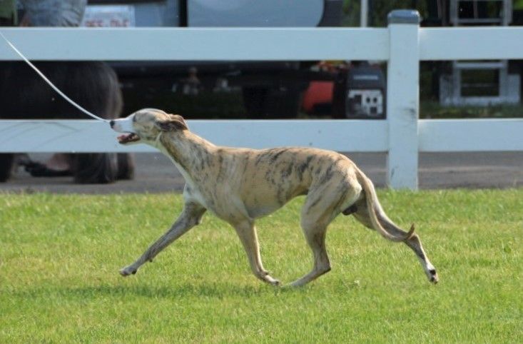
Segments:
[[[111,128],[123,135],[118,143],[153,144],[162,132],[188,130],[186,121],[180,115],[172,115],[156,108],[143,108],[126,118],[109,122]]]

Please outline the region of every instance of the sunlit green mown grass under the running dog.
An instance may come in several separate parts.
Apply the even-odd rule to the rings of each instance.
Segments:
[[[181,210],[176,195],[0,195],[0,343],[521,343],[523,189],[380,191],[417,224],[415,255],[352,218],[327,234],[332,271],[281,290],[251,275],[232,228],[207,214],[121,278]],[[258,221],[265,268],[308,272],[303,199]]]

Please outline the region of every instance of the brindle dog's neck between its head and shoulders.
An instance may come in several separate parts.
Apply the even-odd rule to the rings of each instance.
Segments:
[[[188,130],[161,133],[156,142],[161,145],[157,148],[168,154],[193,180],[201,175],[205,164],[210,163],[216,148],[213,143]]]

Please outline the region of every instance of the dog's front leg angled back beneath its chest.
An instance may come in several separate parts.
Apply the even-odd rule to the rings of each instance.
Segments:
[[[245,248],[247,258],[249,260],[250,269],[253,270],[254,275],[263,280],[263,282],[272,285],[280,285],[280,281],[269,275],[268,271],[263,268],[260,256],[260,246],[258,244],[258,235],[253,221],[245,220],[235,223],[233,227],[240,237],[240,241]]]

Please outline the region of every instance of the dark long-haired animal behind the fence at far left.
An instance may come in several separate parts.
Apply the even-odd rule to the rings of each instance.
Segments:
[[[103,118],[117,118],[122,108],[118,78],[103,62],[36,62],[35,65],[64,93]],[[56,94],[24,62],[0,64],[0,119],[85,119]],[[68,154],[76,183],[111,183],[133,177],[128,154]],[[16,166],[16,155],[0,154],[0,181]]]

